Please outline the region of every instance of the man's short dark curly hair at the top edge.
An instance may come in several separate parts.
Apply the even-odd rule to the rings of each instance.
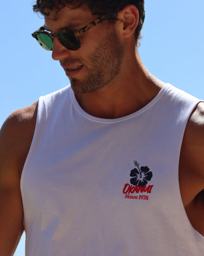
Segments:
[[[60,10],[66,5],[71,8],[86,5],[93,15],[105,15],[109,22],[114,23],[117,20],[118,12],[128,4],[135,5],[139,12],[139,23],[135,30],[135,43],[137,44],[141,39],[141,29],[145,20],[144,0],[37,0],[33,5],[33,11],[48,16],[49,10],[54,8]]]

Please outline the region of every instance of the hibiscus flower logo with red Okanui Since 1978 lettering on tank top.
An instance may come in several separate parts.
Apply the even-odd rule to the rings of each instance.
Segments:
[[[148,185],[153,177],[152,171],[148,166],[139,166],[134,161],[135,168],[130,171],[130,184],[125,184],[123,193],[127,199],[149,200],[149,195],[139,193],[152,193],[153,185]],[[148,186],[147,186],[148,185]],[[130,195],[134,194],[134,195]],[[136,194],[136,195],[135,195]]]

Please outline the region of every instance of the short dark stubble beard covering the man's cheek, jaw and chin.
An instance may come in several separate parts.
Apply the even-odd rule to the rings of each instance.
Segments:
[[[122,59],[123,49],[115,31],[107,32],[102,42],[82,61],[86,67],[84,78],[70,77],[73,91],[88,93],[101,89],[119,74]]]

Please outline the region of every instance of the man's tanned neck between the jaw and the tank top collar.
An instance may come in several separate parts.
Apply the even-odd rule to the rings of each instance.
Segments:
[[[130,58],[110,83],[97,91],[76,94],[84,111],[99,118],[119,118],[141,109],[158,94],[164,83],[146,69],[137,51]]]

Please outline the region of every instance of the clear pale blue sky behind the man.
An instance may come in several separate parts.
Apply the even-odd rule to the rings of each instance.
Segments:
[[[204,99],[204,0],[146,0],[145,8],[139,48],[143,63],[160,80]],[[44,24],[32,12],[32,0],[2,1],[0,24],[1,126],[12,111],[69,80],[51,52],[31,36]],[[25,235],[14,256],[24,256],[24,247]]]

